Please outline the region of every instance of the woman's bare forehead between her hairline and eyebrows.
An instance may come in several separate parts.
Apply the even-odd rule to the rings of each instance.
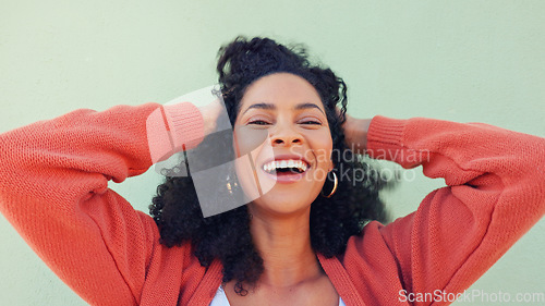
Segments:
[[[277,108],[313,102],[324,110],[319,94],[314,86],[303,77],[291,73],[275,73],[252,83],[242,97],[240,109],[244,111],[256,102],[272,103]]]

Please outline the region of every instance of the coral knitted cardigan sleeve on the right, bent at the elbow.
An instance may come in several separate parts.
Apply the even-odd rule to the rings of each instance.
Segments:
[[[371,157],[422,166],[447,184],[414,213],[366,228],[385,241],[408,292],[465,290],[545,213],[545,138],[487,124],[377,117],[367,148]]]

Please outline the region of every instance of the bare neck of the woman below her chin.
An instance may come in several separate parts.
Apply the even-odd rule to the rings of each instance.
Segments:
[[[323,274],[311,246],[310,209],[290,217],[252,215],[252,238],[264,260],[262,284],[289,287]]]

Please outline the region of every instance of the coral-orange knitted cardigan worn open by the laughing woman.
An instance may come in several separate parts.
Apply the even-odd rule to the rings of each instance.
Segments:
[[[218,260],[205,269],[189,243],[162,246],[154,220],[108,188],[109,180],[120,183],[152,166],[146,119],[158,108],[77,110],[0,135],[0,211],[93,305],[208,305],[221,282]],[[177,122],[178,145],[198,143],[203,119],[195,107],[182,103],[166,114]],[[318,254],[348,306],[409,305],[400,302],[403,290],[461,292],[545,212],[544,138],[485,124],[376,117],[367,147],[372,157],[423,166],[447,186],[404,218],[367,224],[343,256]]]

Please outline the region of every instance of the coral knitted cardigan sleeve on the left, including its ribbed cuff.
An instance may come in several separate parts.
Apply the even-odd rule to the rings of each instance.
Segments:
[[[202,136],[203,119],[191,103],[170,112],[156,103],[77,110],[10,131],[0,135],[0,211],[88,303],[137,304],[158,230],[108,181],[145,172],[148,143],[157,155]]]

